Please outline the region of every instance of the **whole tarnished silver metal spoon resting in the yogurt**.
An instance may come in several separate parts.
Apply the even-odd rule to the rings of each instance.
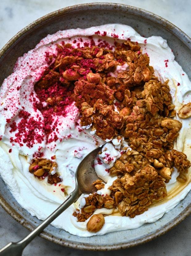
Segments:
[[[102,145],[103,146],[103,145]],[[102,147],[92,150],[79,163],[75,173],[75,190],[70,193],[63,204],[61,204],[47,219],[45,219],[37,228],[35,228],[28,236],[17,243],[9,243],[0,250],[0,256],[20,256],[23,249],[28,245],[37,235],[39,235],[44,228],[46,228],[54,219],[56,219],[64,210],[66,210],[72,203],[75,203],[81,194],[90,194],[96,191],[92,183],[98,179],[94,169],[94,160]]]

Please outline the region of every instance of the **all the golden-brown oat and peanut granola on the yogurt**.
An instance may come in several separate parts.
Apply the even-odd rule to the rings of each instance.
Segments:
[[[46,117],[47,111],[60,115],[67,97],[67,101],[74,100],[79,108],[82,127],[91,126],[103,140],[120,135],[131,148],[124,149],[108,170],[111,176],[116,176],[108,188],[110,195],[94,193],[85,197],[85,206],[76,209],[73,215],[83,222],[96,209],[104,207],[116,208],[122,216],[134,218],[167,196],[165,183],[171,179],[174,167],[180,172],[181,182],[186,181],[184,173],[190,167],[186,155],[173,149],[182,124],[173,119],[177,113],[168,80],[162,83],[154,76],[149,57],[130,41],[116,43],[115,50],[99,46],[74,48],[71,44],[57,47],[55,62],[35,85],[39,98],[43,92],[47,102],[45,107],[37,105],[37,108]],[[128,68],[114,75],[117,66],[124,65]],[[59,93],[48,94],[55,85]],[[189,104],[180,109],[181,118],[190,116]],[[51,122],[48,117],[47,122]],[[50,133],[48,125],[45,130]],[[29,167],[40,179],[48,176],[49,184],[62,181],[56,169],[56,162],[45,158],[34,158]],[[94,185],[98,190],[105,186],[102,180],[96,180]],[[95,218],[99,219],[99,225],[95,224]],[[97,232],[103,225],[103,215],[94,215],[87,223],[87,230]]]

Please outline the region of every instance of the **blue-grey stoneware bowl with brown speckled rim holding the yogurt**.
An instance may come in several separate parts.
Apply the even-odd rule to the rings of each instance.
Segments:
[[[0,51],[0,84],[12,73],[17,58],[33,49],[47,34],[69,28],[87,28],[108,23],[127,24],[145,37],[155,35],[167,39],[177,62],[191,79],[191,66],[188,64],[191,63],[191,39],[179,28],[151,12],[136,7],[94,3],[54,11],[17,33]],[[15,201],[1,178],[0,188],[0,204],[14,219],[30,230],[41,223]],[[148,223],[137,229],[85,238],[49,225],[40,236],[60,245],[79,249],[110,250],[139,245],[164,234],[188,216],[191,212],[190,195],[191,193],[155,223]]]

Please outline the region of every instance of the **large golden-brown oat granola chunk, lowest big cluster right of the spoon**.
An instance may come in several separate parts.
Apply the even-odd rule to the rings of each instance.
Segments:
[[[146,165],[133,176],[126,173],[115,180],[109,189],[114,193],[120,214],[131,218],[148,210],[152,202],[167,195],[162,177],[151,165]]]

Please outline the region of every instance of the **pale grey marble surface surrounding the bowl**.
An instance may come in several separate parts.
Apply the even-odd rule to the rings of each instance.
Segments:
[[[0,1],[0,48],[13,37],[19,30],[39,17],[70,5],[93,1],[83,0],[1,0]],[[99,2],[117,2],[129,4],[152,11],[169,20],[185,33],[191,36],[190,27],[190,0],[114,0]],[[0,207],[0,248],[10,241],[18,241],[26,236],[29,231],[23,228],[5,210]],[[41,237],[36,237],[23,252],[24,256],[42,255],[168,255],[187,256],[191,254],[191,216],[187,217],[177,227],[165,235],[144,245],[125,250],[112,252],[89,252],[65,248],[53,244]],[[11,256],[11,255],[10,255]]]

